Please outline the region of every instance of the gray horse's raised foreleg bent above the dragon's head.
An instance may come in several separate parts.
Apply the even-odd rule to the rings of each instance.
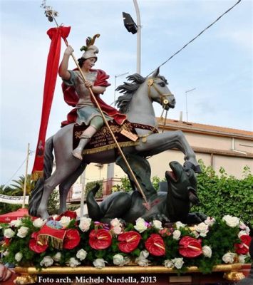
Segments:
[[[199,170],[195,152],[192,150],[192,147],[190,147],[189,142],[187,142],[181,130],[149,135],[147,141],[142,142],[140,140],[140,145],[137,145],[135,149],[138,152],[147,152],[148,155],[157,155],[173,147],[181,150],[185,154],[184,160],[191,162],[192,165],[195,166],[195,169]]]

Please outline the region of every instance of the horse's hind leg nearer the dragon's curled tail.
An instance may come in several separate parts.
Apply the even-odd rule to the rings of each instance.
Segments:
[[[87,164],[82,163],[76,172],[73,172],[66,180],[64,180],[59,185],[59,192],[60,192],[60,209],[59,214],[66,212],[67,210],[67,196],[68,191],[70,190],[71,186],[76,182],[78,177],[83,173],[83,170],[86,169]]]

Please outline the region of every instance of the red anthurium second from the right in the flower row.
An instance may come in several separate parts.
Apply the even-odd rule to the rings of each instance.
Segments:
[[[179,243],[179,253],[183,257],[198,257],[203,253],[201,241],[193,237],[182,237]]]

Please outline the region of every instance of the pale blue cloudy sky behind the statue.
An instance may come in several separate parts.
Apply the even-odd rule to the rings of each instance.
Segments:
[[[237,0],[138,0],[141,20],[141,75],[170,58]],[[24,175],[28,143],[36,149],[41,122],[43,84],[54,27],[43,14],[39,0],[0,0],[0,185]],[[96,68],[110,74],[111,86],[103,99],[113,103],[116,86],[126,81],[123,73],[136,72],[136,34],[123,26],[122,12],[136,21],[132,0],[51,0],[58,24],[71,26],[68,43],[81,57],[86,37],[100,33],[95,42],[100,52]],[[242,0],[187,48],[160,68],[177,100],[168,118],[241,130],[253,130],[253,2]],[[65,45],[62,42],[61,57]],[[75,68],[70,62],[69,68]],[[127,76],[128,76],[127,75]],[[156,104],[156,103],[155,103]],[[155,106],[159,117],[162,107]],[[66,105],[58,78],[48,122],[47,137],[66,119]],[[29,173],[34,153],[29,155]]]

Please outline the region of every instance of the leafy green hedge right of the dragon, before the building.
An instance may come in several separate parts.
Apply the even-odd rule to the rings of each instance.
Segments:
[[[253,227],[253,176],[249,167],[244,167],[243,178],[239,180],[227,175],[223,167],[217,175],[212,167],[206,167],[202,161],[200,166],[202,173],[197,175],[197,194],[201,204],[192,207],[191,212],[220,218],[230,214]]]

